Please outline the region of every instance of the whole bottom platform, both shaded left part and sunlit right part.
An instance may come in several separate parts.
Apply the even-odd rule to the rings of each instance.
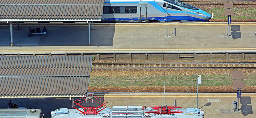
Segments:
[[[126,93],[95,94],[113,106],[160,106],[164,105],[163,93]],[[80,97],[79,97],[80,98]],[[78,98],[75,98],[75,100]],[[0,108],[8,108],[9,100],[20,107],[42,109],[44,118],[50,118],[50,112],[57,108],[72,108],[69,98],[1,98]],[[183,108],[196,108],[196,93],[166,93],[166,105]],[[256,94],[243,93],[239,101],[239,111],[233,110],[232,102],[236,101],[236,93],[199,93],[198,108],[204,111],[204,118],[255,118]],[[99,104],[85,103],[86,107],[97,107]]]

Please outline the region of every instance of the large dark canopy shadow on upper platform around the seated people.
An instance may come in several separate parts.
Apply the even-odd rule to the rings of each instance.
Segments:
[[[20,25],[19,30],[13,25],[13,46],[113,46],[115,26],[91,26],[91,45],[89,45],[88,26],[85,25],[39,25],[47,28],[47,36],[28,37],[29,29],[37,25]],[[11,46],[10,26],[0,27],[0,46]]]

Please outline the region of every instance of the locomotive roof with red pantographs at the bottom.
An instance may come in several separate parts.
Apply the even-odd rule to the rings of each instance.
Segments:
[[[96,100],[93,100],[96,99]],[[96,102],[100,104],[98,107],[84,107],[83,102]],[[101,101],[100,101],[101,100]],[[103,102],[102,102],[103,101]],[[105,102],[105,103],[104,103]],[[203,111],[198,108],[187,108],[176,106],[113,106],[108,108],[105,104],[107,101],[87,94],[86,96],[74,101],[75,109],[59,108],[51,112],[52,118],[203,118]],[[79,106],[80,108],[76,108]],[[104,107],[103,107],[104,106]],[[77,110],[79,112],[77,112]]]

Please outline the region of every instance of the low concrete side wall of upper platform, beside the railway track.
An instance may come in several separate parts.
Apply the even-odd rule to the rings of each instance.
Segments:
[[[8,54],[2,54],[8,55]],[[11,54],[15,55],[15,54]],[[17,54],[17,55],[93,55],[108,61],[217,61],[256,60],[256,52],[241,53],[82,53],[82,54]]]

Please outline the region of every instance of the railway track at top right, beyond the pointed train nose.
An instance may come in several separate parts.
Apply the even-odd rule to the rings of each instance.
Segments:
[[[227,2],[233,3],[234,5],[256,5],[256,0],[191,0],[182,2],[189,5],[223,5]]]

